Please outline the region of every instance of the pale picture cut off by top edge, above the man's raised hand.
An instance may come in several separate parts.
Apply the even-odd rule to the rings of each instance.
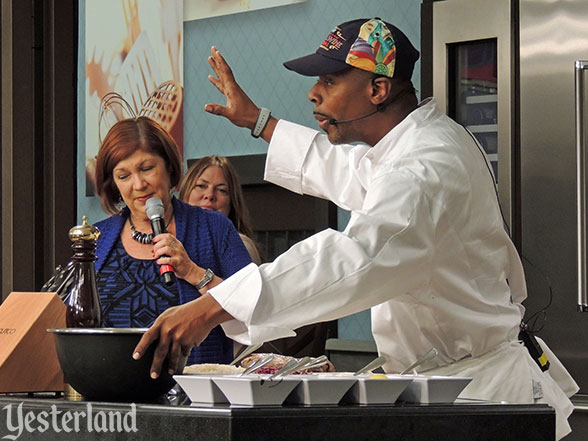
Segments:
[[[184,20],[217,17],[255,9],[302,3],[306,0],[184,0]]]

